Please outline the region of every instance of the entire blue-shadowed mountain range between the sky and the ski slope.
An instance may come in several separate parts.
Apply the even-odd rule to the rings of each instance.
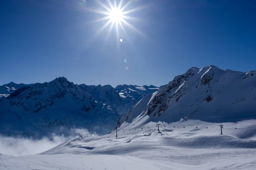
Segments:
[[[75,85],[64,77],[30,85],[0,86],[0,134],[42,137],[106,134],[116,125],[147,122],[237,122],[256,119],[256,71],[192,67],[160,88]]]

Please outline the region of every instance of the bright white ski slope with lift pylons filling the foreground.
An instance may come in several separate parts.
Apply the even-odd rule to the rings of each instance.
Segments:
[[[0,170],[256,169],[256,120],[223,123],[223,135],[218,123],[158,123],[161,133],[156,122],[127,123],[117,129],[117,139],[113,131],[80,136],[33,156],[0,155]]]

